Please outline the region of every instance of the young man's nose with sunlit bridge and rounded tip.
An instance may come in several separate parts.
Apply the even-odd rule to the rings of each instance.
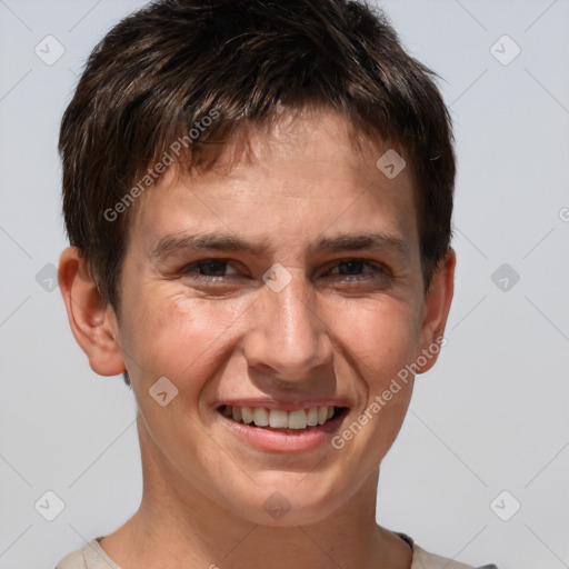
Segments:
[[[303,271],[287,270],[292,280],[282,290],[267,284],[260,289],[243,351],[250,369],[281,382],[299,382],[332,363],[333,347]]]

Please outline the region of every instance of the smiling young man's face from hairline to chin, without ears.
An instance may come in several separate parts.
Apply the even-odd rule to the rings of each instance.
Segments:
[[[411,172],[386,177],[376,161],[389,147],[358,148],[332,112],[252,132],[250,148],[140,198],[118,336],[144,460],[169,487],[256,523],[309,523],[377,473],[412,378],[372,402],[432,340]],[[291,425],[301,409],[343,410],[284,432],[220,406]],[[281,519],[264,503],[276,491]]]

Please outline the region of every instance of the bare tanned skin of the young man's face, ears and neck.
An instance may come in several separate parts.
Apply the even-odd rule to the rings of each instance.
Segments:
[[[140,410],[142,501],[101,547],[123,569],[162,568],[164,559],[171,569],[251,569],[267,560],[271,569],[409,568],[410,548],[377,525],[376,500],[412,379],[341,450],[261,451],[230,432],[213,405],[342,398],[351,423],[442,337],[455,251],[426,295],[410,168],[388,179],[376,161],[390,147],[367,139],[358,147],[333,111],[284,116],[270,134],[252,130],[248,140],[248,159],[236,139],[213,170],[170,169],[139,198],[120,315],[99,297],[77,249],[61,254],[60,289],[78,343],[97,373],[128,369]],[[270,248],[150,254],[168,233],[199,231],[264,239]],[[361,231],[396,237],[408,252],[310,249],[322,236]],[[211,259],[228,263],[192,266]],[[350,259],[372,264],[342,263]],[[280,292],[262,280],[276,262],[292,277]],[[210,280],[197,280],[200,271]],[[148,392],[160,377],[178,388],[166,407]],[[290,505],[278,520],[263,508],[277,490]]]

